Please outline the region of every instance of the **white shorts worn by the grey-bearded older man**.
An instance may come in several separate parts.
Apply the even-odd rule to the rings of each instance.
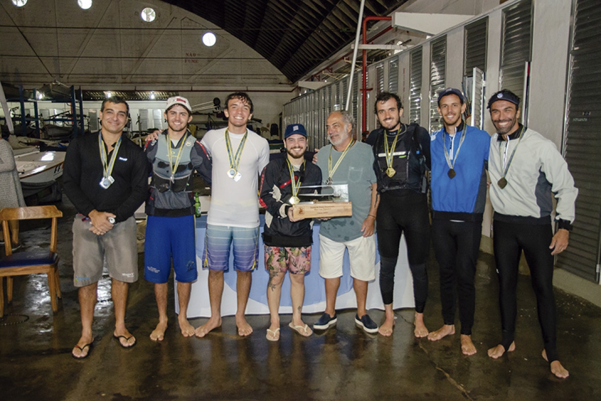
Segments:
[[[376,236],[337,242],[319,234],[319,275],[342,277],[344,250],[349,249],[350,275],[357,280],[376,278]]]

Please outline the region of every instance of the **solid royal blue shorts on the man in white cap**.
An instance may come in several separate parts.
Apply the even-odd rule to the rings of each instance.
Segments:
[[[144,242],[144,278],[162,284],[169,279],[171,257],[175,280],[190,283],[198,277],[194,216],[148,216]]]

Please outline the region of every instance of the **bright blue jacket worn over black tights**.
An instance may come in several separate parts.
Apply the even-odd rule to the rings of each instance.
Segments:
[[[481,221],[486,204],[486,170],[488,168],[490,135],[476,127],[466,126],[466,135],[459,149],[463,130],[448,135],[444,128],[430,135],[432,155],[432,217],[438,219]],[[458,129],[462,129],[460,125]],[[444,135],[444,145],[443,145]],[[453,170],[445,159],[444,146],[451,158],[456,159]],[[459,149],[459,153],[457,150]]]

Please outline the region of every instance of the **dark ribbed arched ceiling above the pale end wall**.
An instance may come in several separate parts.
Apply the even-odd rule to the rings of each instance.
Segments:
[[[163,0],[214,23],[266,58],[291,82],[355,38],[359,0]],[[386,16],[407,0],[365,0]]]

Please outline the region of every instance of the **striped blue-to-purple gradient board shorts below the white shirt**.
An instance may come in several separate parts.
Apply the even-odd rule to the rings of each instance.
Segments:
[[[207,224],[204,236],[203,266],[225,271],[230,267],[230,248],[234,244],[234,269],[252,271],[258,263],[259,228]]]

